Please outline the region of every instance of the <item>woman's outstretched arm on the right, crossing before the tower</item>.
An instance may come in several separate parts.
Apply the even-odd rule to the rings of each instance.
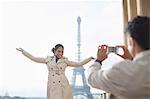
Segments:
[[[79,66],[82,66],[82,65],[88,63],[92,59],[94,59],[94,58],[93,57],[89,57],[87,59],[82,60],[81,62],[73,62],[73,61],[66,60],[66,63],[67,63],[68,66],[79,67]]]

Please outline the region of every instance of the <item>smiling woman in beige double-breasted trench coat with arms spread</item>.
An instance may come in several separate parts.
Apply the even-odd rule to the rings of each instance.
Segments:
[[[44,63],[48,67],[48,83],[47,83],[47,99],[73,99],[71,87],[65,76],[65,69],[67,66],[78,67],[88,63],[92,57],[89,57],[79,63],[69,61],[63,57],[64,47],[57,44],[52,52],[54,56],[47,58],[34,57],[22,48],[17,48],[24,56],[37,63]]]

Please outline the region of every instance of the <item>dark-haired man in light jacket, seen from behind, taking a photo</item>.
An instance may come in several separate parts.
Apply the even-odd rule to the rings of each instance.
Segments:
[[[113,99],[150,99],[150,18],[137,16],[127,27],[129,50],[124,51],[123,61],[107,70],[101,70],[107,58],[107,45],[99,46],[97,59],[89,67],[89,84],[113,94]]]

